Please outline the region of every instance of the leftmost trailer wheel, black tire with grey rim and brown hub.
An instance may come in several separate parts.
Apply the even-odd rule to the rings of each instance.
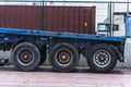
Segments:
[[[38,48],[31,42],[21,42],[12,51],[13,63],[19,71],[33,71],[40,61]]]

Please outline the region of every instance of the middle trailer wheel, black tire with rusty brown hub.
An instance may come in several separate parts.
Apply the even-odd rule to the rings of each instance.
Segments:
[[[58,44],[49,53],[49,62],[57,72],[71,72],[80,60],[78,49],[70,44]]]

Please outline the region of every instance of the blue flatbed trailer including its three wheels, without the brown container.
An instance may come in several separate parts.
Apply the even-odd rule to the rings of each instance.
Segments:
[[[80,54],[87,59],[94,72],[108,72],[117,60],[124,62],[124,37],[0,28],[0,47],[12,50],[13,63],[21,71],[32,71],[41,65],[48,51],[50,64],[58,72],[72,71]],[[95,60],[96,64],[93,63]]]

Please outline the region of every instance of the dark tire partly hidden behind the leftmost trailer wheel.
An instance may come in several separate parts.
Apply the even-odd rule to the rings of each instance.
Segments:
[[[47,57],[46,47],[40,47],[39,51],[40,51],[40,62],[38,66],[44,64],[44,62],[46,61],[46,57]]]

